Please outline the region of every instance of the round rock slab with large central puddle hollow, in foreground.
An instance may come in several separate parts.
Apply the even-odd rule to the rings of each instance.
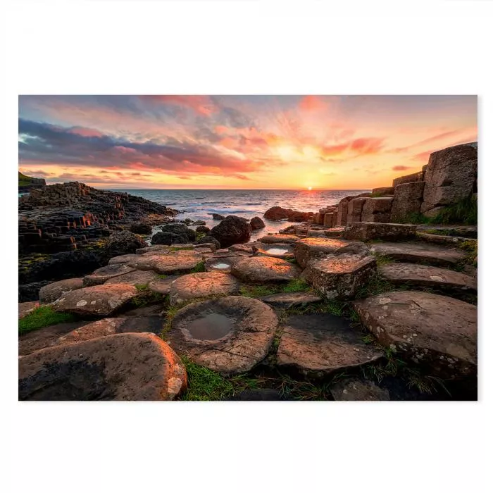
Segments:
[[[258,299],[224,297],[181,308],[166,334],[168,344],[222,375],[251,370],[268,354],[277,316]]]

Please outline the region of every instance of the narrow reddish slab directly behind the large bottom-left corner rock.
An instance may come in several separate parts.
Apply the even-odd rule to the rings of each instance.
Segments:
[[[68,334],[61,335],[50,346],[75,344],[89,339],[96,339],[97,337],[123,334],[125,332],[150,332],[160,335],[163,332],[163,319],[159,316],[103,318],[82,327],[77,327],[75,330],[68,332]]]

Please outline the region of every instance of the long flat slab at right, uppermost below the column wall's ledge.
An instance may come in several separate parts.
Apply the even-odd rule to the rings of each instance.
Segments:
[[[426,263],[430,266],[454,266],[466,258],[466,254],[461,250],[428,243],[374,243],[370,251],[393,260]]]

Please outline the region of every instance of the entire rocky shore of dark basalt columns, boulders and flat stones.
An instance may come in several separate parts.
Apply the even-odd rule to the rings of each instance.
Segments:
[[[275,206],[280,232],[254,242],[259,217],[208,228],[77,182],[32,190],[19,398],[477,399],[477,225],[454,223],[477,166],[463,144],[316,213]]]

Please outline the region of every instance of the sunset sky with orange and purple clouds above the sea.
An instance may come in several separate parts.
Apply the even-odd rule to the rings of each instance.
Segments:
[[[371,189],[478,140],[476,96],[19,96],[19,169],[106,189]]]

